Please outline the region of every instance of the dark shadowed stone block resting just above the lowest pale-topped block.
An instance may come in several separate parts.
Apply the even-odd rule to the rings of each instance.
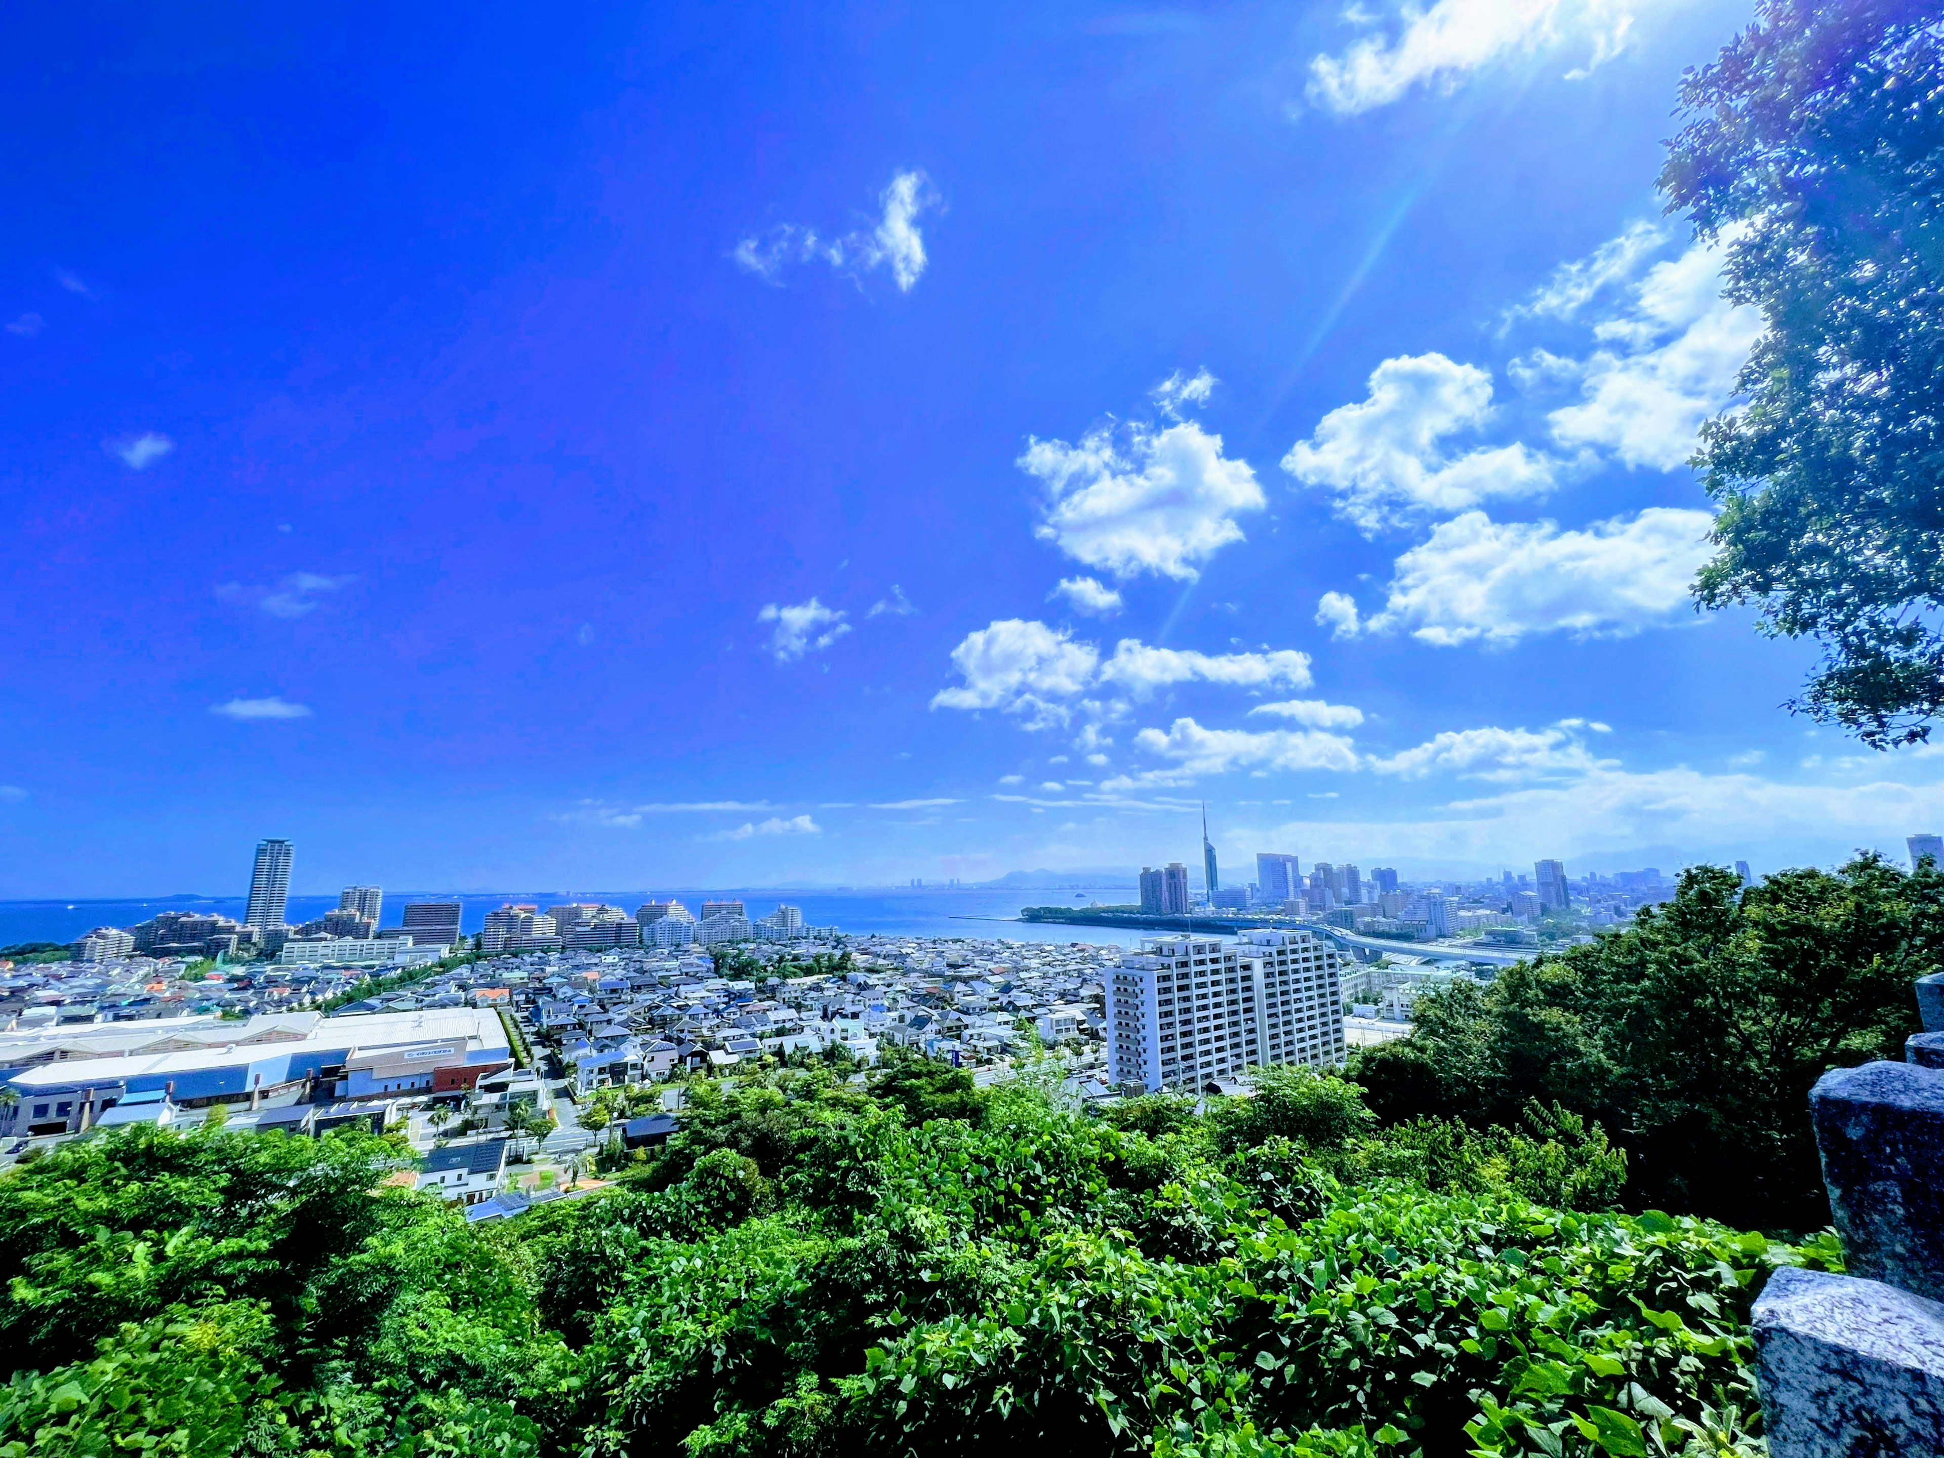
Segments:
[[[1944,1301],[1944,1073],[1833,1069],[1810,1118],[1851,1273]]]

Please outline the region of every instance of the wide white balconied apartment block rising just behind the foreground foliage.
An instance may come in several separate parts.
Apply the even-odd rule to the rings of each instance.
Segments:
[[[1343,1061],[1337,953],[1308,931],[1153,937],[1106,976],[1108,1077],[1147,1093]]]

